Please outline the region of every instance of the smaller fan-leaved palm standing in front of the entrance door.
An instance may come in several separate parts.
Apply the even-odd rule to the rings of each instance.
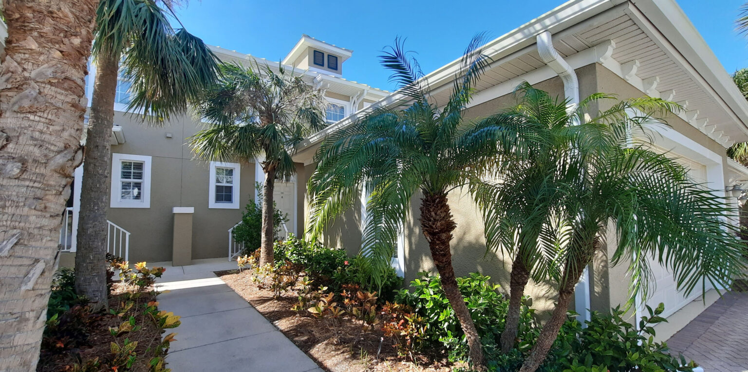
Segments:
[[[221,78],[195,106],[208,124],[188,140],[204,160],[260,161],[265,173],[260,264],[269,264],[275,181],[289,181],[295,173],[295,145],[325,127],[325,91],[280,63],[277,69],[222,63],[220,72]]]

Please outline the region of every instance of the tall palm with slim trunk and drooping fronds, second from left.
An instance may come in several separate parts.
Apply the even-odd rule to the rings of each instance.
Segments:
[[[94,309],[107,305],[109,137],[120,61],[124,75],[132,81],[129,109],[141,109],[141,120],[150,124],[183,114],[188,99],[215,81],[215,55],[184,28],[171,28],[169,16],[174,16],[171,1],[100,0],[96,10],[96,81],[76,249],[76,291],[91,299]]]

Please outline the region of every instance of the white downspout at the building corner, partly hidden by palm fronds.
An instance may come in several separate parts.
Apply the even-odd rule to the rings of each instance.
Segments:
[[[544,31],[537,37],[538,53],[540,59],[551,67],[556,72],[561,80],[563,81],[563,90],[565,99],[568,100],[566,105],[566,112],[571,113],[577,109],[579,105],[579,79],[574,69],[569,66],[566,61],[559,55],[556,48],[554,48],[553,40],[551,40],[551,33]],[[577,117],[572,119],[572,125],[578,125]],[[577,287],[574,289],[574,308],[577,313],[582,317],[581,323],[584,325],[584,320],[590,320],[589,316],[589,267],[584,268],[582,278],[577,283]]]

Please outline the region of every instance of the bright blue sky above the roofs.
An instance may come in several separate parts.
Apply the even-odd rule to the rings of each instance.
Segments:
[[[743,1],[678,0],[731,73],[748,66],[748,38],[736,34],[734,24]],[[407,37],[407,49],[417,52],[428,73],[459,58],[474,34],[499,37],[562,2],[193,0],[178,14],[206,43],[273,61],[280,61],[301,34],[353,49],[343,77],[393,90],[378,55],[395,37]]]

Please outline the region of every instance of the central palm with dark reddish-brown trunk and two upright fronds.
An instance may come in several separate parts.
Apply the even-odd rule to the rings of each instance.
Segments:
[[[510,149],[524,148],[518,131],[522,125],[506,125],[488,117],[464,120],[473,87],[488,59],[482,55],[482,35],[468,45],[456,75],[450,99],[440,108],[428,96],[426,79],[403,44],[381,56],[382,64],[399,84],[406,102],[399,107],[373,108],[361,120],[331,134],[316,155],[319,164],[307,187],[310,193],[312,238],[319,237],[327,223],[355,205],[365,185],[367,215],[361,254],[368,258],[373,279],[379,280],[390,265],[395,239],[411,208],[420,197],[420,225],[429,242],[432,258],[470,347],[474,368],[485,370],[480,338],[460,294],[452,266],[450,241],[456,223],[450,211],[451,190],[481,185]],[[420,193],[420,194],[419,194]]]

